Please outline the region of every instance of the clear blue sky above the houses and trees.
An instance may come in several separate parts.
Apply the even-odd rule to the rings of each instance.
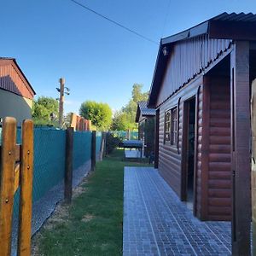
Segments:
[[[158,42],[224,11],[256,13],[255,0],[77,1]],[[57,97],[65,77],[71,89],[65,112],[78,113],[86,100],[119,109],[132,84],[149,90],[158,45],[70,0],[1,1],[0,10],[0,56],[17,59],[37,96]]]

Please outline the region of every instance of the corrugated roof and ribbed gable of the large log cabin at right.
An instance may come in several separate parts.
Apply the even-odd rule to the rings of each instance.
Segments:
[[[172,80],[172,84],[169,84],[172,88],[167,91],[169,95],[166,95],[166,91],[164,93],[168,97],[206,70],[219,56],[224,55],[230,48],[232,39],[256,40],[255,27],[256,15],[223,13],[188,30],[161,39],[148,107],[155,108],[158,102],[164,100],[160,96],[160,90],[165,86],[165,79]],[[176,70],[170,73],[167,67]],[[166,74],[168,72],[169,76]],[[170,81],[166,81],[168,83]]]

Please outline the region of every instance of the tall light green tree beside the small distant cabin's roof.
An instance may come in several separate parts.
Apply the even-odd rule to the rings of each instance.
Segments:
[[[137,102],[148,100],[148,91],[143,92],[143,84],[133,84],[131,100],[120,111],[114,113],[112,130],[125,131],[137,128],[135,123]]]

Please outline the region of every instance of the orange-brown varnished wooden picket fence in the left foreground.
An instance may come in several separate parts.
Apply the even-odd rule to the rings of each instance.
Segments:
[[[14,195],[20,187],[19,256],[30,255],[32,224],[33,124],[22,124],[22,144],[16,144],[16,120],[3,119],[0,154],[0,250],[1,256],[11,253]]]

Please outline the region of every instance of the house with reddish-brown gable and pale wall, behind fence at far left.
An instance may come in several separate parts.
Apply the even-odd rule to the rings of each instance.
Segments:
[[[15,117],[18,125],[31,119],[35,94],[15,59],[0,57],[0,118]]]

